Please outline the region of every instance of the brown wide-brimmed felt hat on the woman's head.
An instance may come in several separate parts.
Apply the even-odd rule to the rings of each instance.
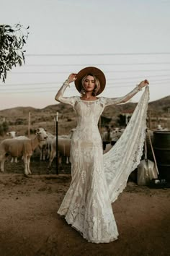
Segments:
[[[102,93],[106,85],[106,78],[102,70],[98,69],[97,67],[85,67],[84,69],[81,69],[76,75],[76,80],[74,81],[74,83],[76,85],[76,89],[79,90],[79,93],[81,93],[82,90],[81,80],[86,76],[86,74],[92,74],[99,79],[100,88],[97,92],[97,95]]]

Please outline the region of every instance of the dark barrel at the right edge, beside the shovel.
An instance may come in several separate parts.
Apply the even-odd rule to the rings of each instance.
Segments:
[[[156,155],[159,179],[170,181],[170,131],[153,132],[153,150]]]

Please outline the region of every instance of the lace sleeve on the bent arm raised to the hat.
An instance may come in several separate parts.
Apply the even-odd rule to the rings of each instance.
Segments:
[[[63,85],[61,86],[60,90],[58,90],[58,93],[55,95],[55,101],[59,101],[61,103],[70,104],[71,106],[74,106],[75,103],[75,97],[63,97],[63,93],[65,92],[67,87],[70,87],[68,79],[63,82]]]

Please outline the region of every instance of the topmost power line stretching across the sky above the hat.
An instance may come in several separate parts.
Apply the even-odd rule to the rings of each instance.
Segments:
[[[25,54],[28,57],[55,57],[55,56],[126,56],[126,55],[169,55],[170,52],[155,52],[155,53],[103,53],[103,54]]]

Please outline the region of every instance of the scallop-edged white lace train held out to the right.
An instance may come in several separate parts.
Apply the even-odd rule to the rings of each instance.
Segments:
[[[128,176],[140,163],[146,137],[148,100],[147,86],[122,136],[114,147],[104,154],[104,173],[111,202],[115,202],[125,188]]]

